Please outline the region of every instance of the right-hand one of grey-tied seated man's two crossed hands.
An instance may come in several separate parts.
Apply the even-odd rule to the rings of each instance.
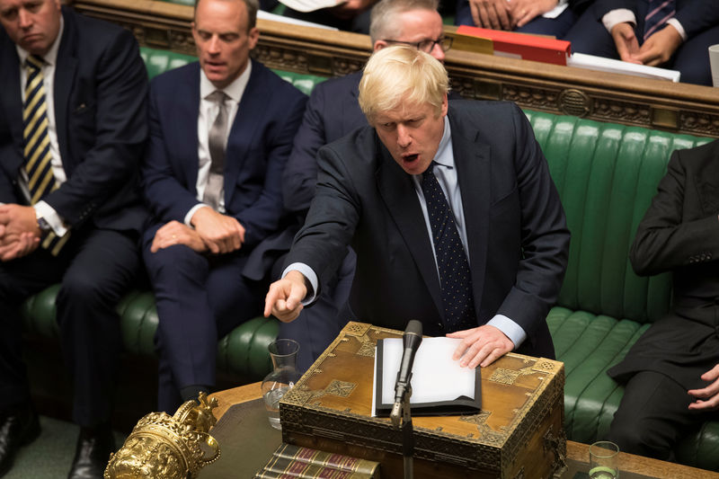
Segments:
[[[244,226],[234,217],[217,213],[212,208],[203,207],[195,211],[190,223],[211,253],[232,253],[244,243]]]

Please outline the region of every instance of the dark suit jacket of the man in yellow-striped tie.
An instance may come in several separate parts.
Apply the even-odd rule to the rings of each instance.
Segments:
[[[147,74],[127,30],[63,7],[55,120],[67,182],[44,199],[72,229],[141,231],[138,164],[147,136]],[[0,29],[0,201],[27,204],[22,168],[20,60]]]

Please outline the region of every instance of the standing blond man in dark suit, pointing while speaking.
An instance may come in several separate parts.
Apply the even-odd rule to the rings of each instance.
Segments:
[[[294,320],[351,244],[359,320],[417,319],[461,338],[454,357],[470,368],[510,350],[554,358],[546,314],[569,232],[546,159],[516,105],[447,92],[429,54],[373,54],[359,84],[371,126],[320,149],[315,199],[265,315]]]

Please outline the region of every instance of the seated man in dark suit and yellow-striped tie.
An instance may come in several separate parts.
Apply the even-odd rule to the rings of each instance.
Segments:
[[[60,341],[80,425],[70,478],[114,449],[115,307],[140,268],[147,74],[129,31],[58,0],[0,0],[0,475],[40,433],[18,306],[61,282]]]

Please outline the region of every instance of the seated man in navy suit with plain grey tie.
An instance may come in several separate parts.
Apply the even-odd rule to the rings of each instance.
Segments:
[[[143,166],[155,226],[144,259],[160,324],[159,405],[215,384],[217,340],[262,311],[265,253],[280,229],[281,176],[306,96],[249,58],[256,0],[201,0],[199,63],[150,89]]]

